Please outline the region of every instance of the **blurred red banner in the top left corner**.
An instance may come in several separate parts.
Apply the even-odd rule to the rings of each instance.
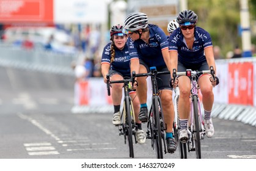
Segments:
[[[53,0],[0,0],[0,22],[53,23]]]

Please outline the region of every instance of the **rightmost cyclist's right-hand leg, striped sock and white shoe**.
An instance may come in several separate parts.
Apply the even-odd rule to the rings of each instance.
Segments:
[[[208,70],[208,65],[203,64],[200,70]],[[212,137],[214,134],[213,122],[211,120],[211,109],[213,108],[214,94],[213,85],[210,82],[210,75],[201,75],[198,79],[198,84],[202,93],[202,103],[204,108],[205,118],[205,133],[208,137]]]

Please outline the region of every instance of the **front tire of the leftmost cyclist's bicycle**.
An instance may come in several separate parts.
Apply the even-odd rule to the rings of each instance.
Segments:
[[[128,105],[127,105],[128,104]],[[130,158],[134,158],[134,150],[133,150],[133,126],[131,121],[131,101],[128,96],[125,97],[125,109],[126,109],[126,137],[128,139],[128,147],[129,147],[129,156]]]

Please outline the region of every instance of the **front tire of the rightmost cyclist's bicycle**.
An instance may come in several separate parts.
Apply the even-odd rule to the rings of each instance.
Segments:
[[[200,159],[201,158],[201,143],[200,143],[200,129],[199,129],[199,111],[198,111],[198,101],[197,101],[197,96],[194,95],[192,96],[192,103],[193,103],[193,112],[194,112],[194,126],[193,126],[193,139],[195,142],[195,147],[196,147],[196,158]]]

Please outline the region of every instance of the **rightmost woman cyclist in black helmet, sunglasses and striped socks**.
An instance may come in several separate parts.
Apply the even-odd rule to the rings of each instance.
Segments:
[[[192,10],[183,10],[177,16],[180,27],[169,37],[170,71],[209,70],[213,66],[216,74],[216,66],[213,55],[213,43],[210,34],[200,27],[196,27],[197,15]],[[219,79],[210,81],[210,75],[201,75],[198,84],[202,93],[204,108],[205,131],[208,137],[214,134],[213,122],[211,120],[211,109],[213,107],[213,86],[219,84]],[[187,76],[178,78],[180,98],[178,100],[178,114],[180,117],[180,140],[188,140],[187,123],[190,111],[189,95],[191,90],[190,79]],[[175,85],[174,82],[171,83]]]

